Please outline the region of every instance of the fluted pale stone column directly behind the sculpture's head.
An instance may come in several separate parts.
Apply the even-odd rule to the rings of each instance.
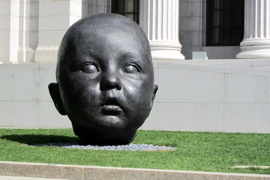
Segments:
[[[178,25],[178,0],[140,1],[140,26],[149,39],[153,60],[184,59]]]

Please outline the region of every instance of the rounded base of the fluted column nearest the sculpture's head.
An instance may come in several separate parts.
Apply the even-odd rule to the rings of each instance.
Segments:
[[[181,44],[164,43],[164,42],[149,42],[153,60],[180,60],[185,59],[182,55]]]

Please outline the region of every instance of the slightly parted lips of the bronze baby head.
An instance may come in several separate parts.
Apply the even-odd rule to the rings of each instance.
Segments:
[[[116,116],[123,110],[121,105],[117,101],[108,101],[100,108],[103,115]]]

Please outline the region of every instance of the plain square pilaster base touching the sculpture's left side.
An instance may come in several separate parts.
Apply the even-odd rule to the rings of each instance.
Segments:
[[[35,52],[35,62],[57,61],[58,47],[59,45],[39,45]]]

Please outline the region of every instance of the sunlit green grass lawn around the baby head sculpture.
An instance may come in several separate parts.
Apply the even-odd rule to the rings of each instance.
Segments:
[[[270,166],[270,134],[138,131],[133,143],[177,147],[176,151],[167,152],[26,145],[73,141],[79,139],[72,129],[0,129],[0,161],[270,174],[270,168],[232,168],[238,165]]]

